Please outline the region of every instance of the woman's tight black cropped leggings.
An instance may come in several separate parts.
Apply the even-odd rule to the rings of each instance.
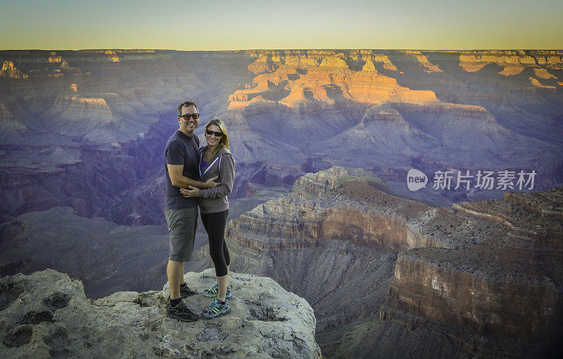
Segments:
[[[215,275],[227,275],[227,265],[231,263],[229,250],[224,242],[224,227],[227,225],[229,210],[217,213],[201,213],[201,222],[209,238],[209,255],[215,264]]]

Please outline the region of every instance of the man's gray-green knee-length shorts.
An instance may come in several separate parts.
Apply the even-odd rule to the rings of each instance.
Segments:
[[[170,231],[170,251],[168,259],[187,262],[194,251],[194,240],[198,226],[198,207],[181,210],[164,210]]]

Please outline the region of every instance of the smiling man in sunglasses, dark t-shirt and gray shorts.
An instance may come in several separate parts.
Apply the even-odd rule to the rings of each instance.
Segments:
[[[166,172],[166,206],[164,215],[170,229],[170,251],[167,265],[168,282],[170,283],[170,304],[166,308],[169,317],[182,322],[198,320],[186,307],[182,297],[195,294],[184,283],[184,262],[191,258],[194,249],[198,220],[197,197],[186,198],[179,189],[188,186],[199,189],[216,187],[213,177],[207,182],[199,182],[199,139],[194,130],[199,124],[199,113],[196,103],[186,101],[178,108],[179,128],[168,139],[165,147]]]

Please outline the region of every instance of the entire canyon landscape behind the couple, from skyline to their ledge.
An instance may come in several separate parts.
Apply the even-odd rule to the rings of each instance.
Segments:
[[[325,357],[561,353],[563,51],[0,51],[0,63],[0,276],[52,268],[89,298],[161,288],[163,149],[193,99],[201,142],[221,118],[236,160],[232,270],[305,298]],[[411,169],[428,177],[416,191]],[[476,185],[487,171],[498,182]],[[519,172],[535,177],[522,187]],[[200,223],[186,270],[210,266],[206,242]]]

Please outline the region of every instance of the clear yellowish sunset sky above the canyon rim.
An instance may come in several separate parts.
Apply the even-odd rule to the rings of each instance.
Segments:
[[[0,49],[563,49],[562,0],[0,0]]]

